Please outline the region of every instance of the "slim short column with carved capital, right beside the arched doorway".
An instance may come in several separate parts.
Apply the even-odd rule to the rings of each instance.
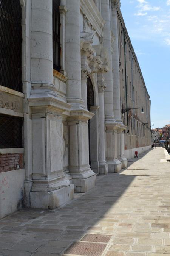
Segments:
[[[102,76],[98,76],[99,97],[99,174],[108,173],[108,165],[105,159],[105,115],[104,115],[104,89],[105,83]]]

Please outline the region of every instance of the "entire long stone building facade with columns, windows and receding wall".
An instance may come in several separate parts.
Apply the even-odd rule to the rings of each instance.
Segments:
[[[88,191],[96,175],[147,150],[151,136],[119,0],[1,0],[0,19],[2,218]]]

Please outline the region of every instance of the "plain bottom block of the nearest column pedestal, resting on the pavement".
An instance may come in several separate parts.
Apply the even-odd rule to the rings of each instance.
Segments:
[[[48,192],[30,192],[30,206],[38,209],[55,209],[74,198],[74,185]]]

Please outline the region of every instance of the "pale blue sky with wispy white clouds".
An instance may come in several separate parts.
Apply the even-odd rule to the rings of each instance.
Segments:
[[[151,100],[152,128],[170,124],[170,0],[121,0]]]

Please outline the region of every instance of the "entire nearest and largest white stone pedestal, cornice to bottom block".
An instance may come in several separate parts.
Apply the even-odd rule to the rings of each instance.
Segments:
[[[63,118],[70,105],[51,95],[34,94],[32,109],[32,208],[54,209],[74,197],[63,172]]]

